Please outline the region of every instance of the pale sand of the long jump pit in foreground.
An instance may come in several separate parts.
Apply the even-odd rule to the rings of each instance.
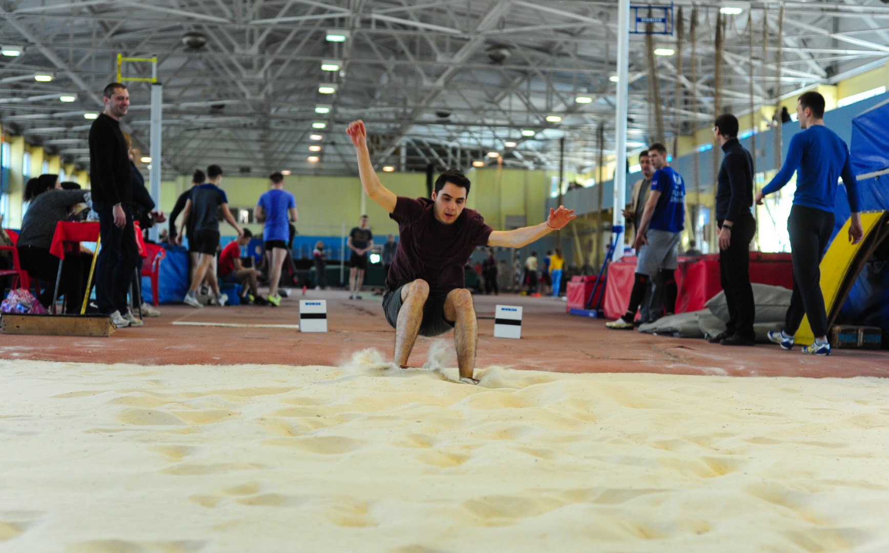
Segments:
[[[889,381],[376,361],[0,361],[0,551],[889,550]]]

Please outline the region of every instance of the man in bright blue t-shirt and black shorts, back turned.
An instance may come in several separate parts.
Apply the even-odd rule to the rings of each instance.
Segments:
[[[296,198],[284,190],[284,174],[273,172],[268,175],[271,189],[260,196],[253,214],[256,220],[265,220],[262,227],[262,239],[266,244],[266,260],[268,261],[268,303],[274,307],[281,305],[281,296],[277,293],[281,281],[281,268],[287,259],[287,242],[290,241],[290,221],[296,222],[299,213],[296,211]]]

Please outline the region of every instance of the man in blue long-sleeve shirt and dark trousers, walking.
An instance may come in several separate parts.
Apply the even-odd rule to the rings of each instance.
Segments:
[[[861,242],[864,233],[858,183],[849,163],[849,148],[836,132],[824,126],[824,97],[818,92],[805,92],[797,101],[797,118],[803,132],[797,132],[790,139],[784,166],[756,197],[757,204],[761,205],[764,196],[779,190],[793,172],[797,172],[797,191],[787,221],[793,260],[793,295],[784,328],[780,333],[770,332],[769,340],[780,344],[781,349],[792,349],[793,336],[805,315],[809,317],[815,341],[805,347],[803,353],[828,356],[830,344],[821,293],[821,257],[834,226],[834,198],[840,178],[845,183],[852,212],[849,241]]]

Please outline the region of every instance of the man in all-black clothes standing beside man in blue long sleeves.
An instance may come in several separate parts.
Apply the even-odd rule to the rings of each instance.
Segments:
[[[738,119],[732,114],[717,117],[713,135],[723,148],[717,176],[717,225],[719,226],[719,280],[725,291],[728,322],[725,333],[710,338],[724,346],[756,343],[753,319],[753,287],[750,285],[750,241],[757,232],[753,205],[753,158],[738,141]]]

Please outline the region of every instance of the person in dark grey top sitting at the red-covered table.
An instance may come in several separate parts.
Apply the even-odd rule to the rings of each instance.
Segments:
[[[59,188],[59,189],[56,189]],[[60,189],[59,176],[43,174],[28,180],[25,200],[30,202],[28,212],[21,222],[18,244],[21,268],[32,276],[55,282],[59,273],[59,258],[50,253],[52,236],[60,220],[68,220],[72,205],[87,202],[90,193],[84,190]],[[65,312],[80,313],[84,299],[84,262],[80,252],[65,252],[59,279],[59,293],[66,300]],[[38,300],[49,308],[53,289],[47,286]]]

